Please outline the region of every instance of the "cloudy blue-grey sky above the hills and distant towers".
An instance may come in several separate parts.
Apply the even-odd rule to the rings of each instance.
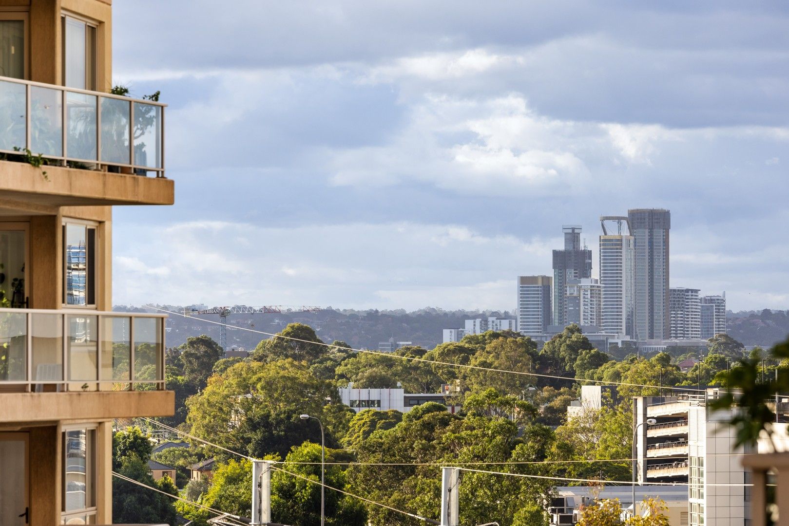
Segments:
[[[784,2],[116,0],[114,80],[176,185],[115,208],[116,303],[511,309],[664,207],[672,286],[789,308]]]

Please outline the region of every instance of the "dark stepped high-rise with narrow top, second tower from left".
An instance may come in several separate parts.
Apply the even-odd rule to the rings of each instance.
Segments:
[[[553,251],[553,325],[566,326],[565,293],[571,279],[592,277],[592,251],[581,248],[581,226],[563,225],[564,250]]]

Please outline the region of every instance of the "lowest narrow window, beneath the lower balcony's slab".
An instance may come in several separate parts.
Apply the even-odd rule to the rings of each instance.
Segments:
[[[62,524],[95,524],[95,429],[67,429],[62,439]]]

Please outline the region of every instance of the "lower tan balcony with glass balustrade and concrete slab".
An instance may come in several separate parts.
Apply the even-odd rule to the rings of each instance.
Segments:
[[[0,308],[0,420],[172,415],[164,318]]]

